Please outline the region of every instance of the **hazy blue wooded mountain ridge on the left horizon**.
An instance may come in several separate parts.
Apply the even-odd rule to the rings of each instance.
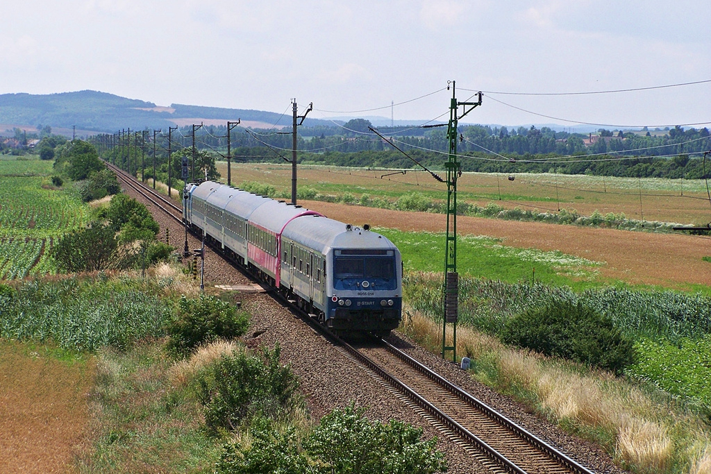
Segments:
[[[49,125],[52,127],[76,126],[97,132],[112,133],[119,129],[166,129],[180,119],[242,119],[244,122],[291,124],[290,117],[282,114],[249,109],[201,107],[171,104],[157,107],[153,102],[128,99],[107,92],[82,90],[48,95],[26,93],[0,95],[0,123],[22,125]],[[305,125],[330,125],[326,120],[306,119]]]

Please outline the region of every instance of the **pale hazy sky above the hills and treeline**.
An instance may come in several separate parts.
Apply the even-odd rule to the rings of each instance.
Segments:
[[[309,118],[425,122],[481,90],[461,122],[711,126],[704,1],[0,0],[0,11],[0,94],[289,114],[296,99],[300,113],[313,102]],[[629,91],[688,82],[701,83]],[[628,91],[560,95],[611,90]]]

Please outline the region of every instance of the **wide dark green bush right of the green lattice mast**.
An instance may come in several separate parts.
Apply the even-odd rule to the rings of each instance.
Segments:
[[[552,301],[506,321],[504,343],[518,345],[616,374],[634,363],[631,339],[606,318],[582,303]]]

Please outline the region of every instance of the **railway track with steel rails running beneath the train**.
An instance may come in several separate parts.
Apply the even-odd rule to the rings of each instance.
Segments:
[[[182,210],[137,181],[128,173],[111,166],[122,183],[137,191],[158,208],[182,223]],[[219,249],[214,249],[220,253]],[[229,259],[228,259],[229,260]],[[232,264],[232,262],[229,260]],[[255,279],[244,268],[241,271]],[[592,470],[545,443],[513,421],[429,370],[405,352],[384,340],[351,345],[333,335],[277,291],[272,296],[297,313],[322,333],[342,352],[346,352],[371,375],[406,397],[410,404],[427,414],[427,419],[441,430],[449,431],[458,443],[492,473],[515,474],[593,474]]]

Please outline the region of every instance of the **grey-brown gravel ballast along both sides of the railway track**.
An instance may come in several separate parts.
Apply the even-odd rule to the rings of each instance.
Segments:
[[[164,239],[169,229],[170,244],[183,250],[184,227],[167,216],[155,205],[147,203],[133,190],[126,192],[145,203],[161,227],[159,237]],[[200,241],[188,235],[188,249],[197,249]],[[206,247],[207,248],[207,247]],[[191,259],[192,257],[188,257]],[[188,259],[183,259],[187,264]],[[250,279],[225,262],[212,249],[205,252],[205,285],[250,284]],[[287,308],[274,301],[269,293],[244,293],[237,296],[242,308],[252,313],[252,324],[245,341],[250,348],[273,348],[277,343],[282,348],[282,361],[289,364],[299,377],[301,393],[311,416],[318,420],[334,408],[343,408],[354,403],[367,409],[370,419],[387,421],[397,419],[424,430],[424,436],[437,436],[438,447],[447,455],[449,473],[488,473],[486,466],[474,459],[446,433],[439,431],[422,412],[412,408],[392,389],[383,386],[370,373],[360,367],[345,351],[336,348],[321,335],[296,318]],[[471,379],[451,362],[442,360],[419,348],[402,335],[393,334],[390,343],[404,349],[412,357],[459,385],[466,392],[501,411],[509,419],[534,433],[543,441],[561,449],[568,456],[597,473],[625,473],[616,467],[609,455],[599,447],[563,433],[556,426],[530,414],[525,406],[494,392]]]

